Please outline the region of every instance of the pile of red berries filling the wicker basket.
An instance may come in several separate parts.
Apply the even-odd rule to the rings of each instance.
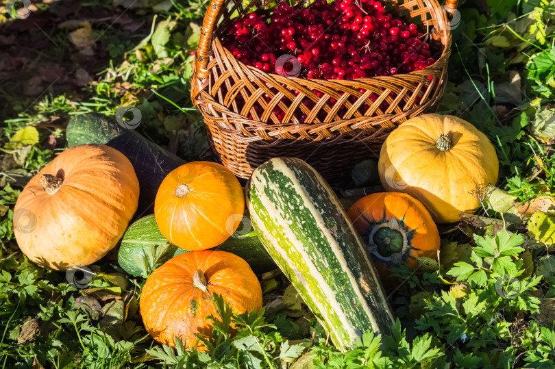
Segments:
[[[232,23],[222,43],[243,64],[286,77],[356,79],[434,64],[416,25],[385,12],[373,0],[280,3],[269,18],[251,13]]]

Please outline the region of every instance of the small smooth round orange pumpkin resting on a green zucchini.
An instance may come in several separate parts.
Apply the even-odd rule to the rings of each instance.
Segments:
[[[188,251],[210,249],[227,240],[244,210],[239,181],[229,169],[212,162],[190,162],[172,170],[154,203],[164,237]]]

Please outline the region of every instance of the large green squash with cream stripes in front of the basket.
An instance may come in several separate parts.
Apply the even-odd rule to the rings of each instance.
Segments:
[[[365,246],[328,183],[308,164],[275,158],[250,179],[251,221],[334,344],[347,351],[395,320]]]

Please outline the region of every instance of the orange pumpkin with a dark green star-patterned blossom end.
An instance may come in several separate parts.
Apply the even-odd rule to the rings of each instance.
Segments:
[[[370,194],[356,201],[347,214],[367,244],[382,279],[388,279],[388,269],[401,260],[414,269],[418,257],[437,259],[437,227],[424,205],[408,194]]]

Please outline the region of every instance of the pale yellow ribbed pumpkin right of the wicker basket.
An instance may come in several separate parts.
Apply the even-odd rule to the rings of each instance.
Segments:
[[[488,138],[456,116],[424,114],[388,136],[378,162],[386,191],[421,201],[437,223],[456,222],[480,205],[480,192],[495,185],[499,160]]]

